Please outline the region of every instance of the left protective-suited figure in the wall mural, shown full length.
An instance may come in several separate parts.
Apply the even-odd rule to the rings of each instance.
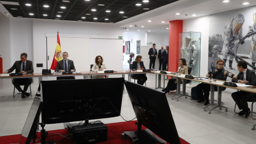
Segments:
[[[234,50],[236,43],[242,39],[243,33],[243,23],[244,23],[244,15],[243,14],[236,14],[233,18],[230,18],[226,23],[224,28],[224,35],[223,35],[223,61],[224,67],[226,67],[226,61],[229,57],[229,69],[233,69],[232,63],[234,60]]]

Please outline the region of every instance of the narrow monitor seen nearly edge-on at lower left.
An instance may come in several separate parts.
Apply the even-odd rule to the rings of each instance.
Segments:
[[[35,140],[35,134],[38,128],[39,116],[41,114],[42,105],[43,102],[41,102],[40,97],[35,97],[21,133],[20,144],[28,144],[30,143],[32,138]]]

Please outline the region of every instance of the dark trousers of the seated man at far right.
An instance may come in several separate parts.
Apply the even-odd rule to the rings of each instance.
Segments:
[[[256,97],[256,94],[251,92],[238,91],[238,92],[233,92],[231,96],[233,100],[236,102],[236,105],[238,106],[239,109],[247,110],[248,109],[247,100],[250,100],[253,97]]]

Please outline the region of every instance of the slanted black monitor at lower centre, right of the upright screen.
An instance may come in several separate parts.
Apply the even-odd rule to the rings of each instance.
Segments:
[[[166,95],[128,81],[125,87],[138,121],[165,141],[180,143]]]

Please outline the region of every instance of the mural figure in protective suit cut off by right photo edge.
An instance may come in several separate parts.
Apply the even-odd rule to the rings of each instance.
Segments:
[[[248,33],[253,33],[256,31],[256,11],[254,11],[252,16],[253,16],[253,21],[251,22],[251,25],[249,26]],[[256,35],[252,35],[250,58],[252,59],[253,67],[255,67],[255,62],[256,62],[256,50],[255,49],[256,49]]]

